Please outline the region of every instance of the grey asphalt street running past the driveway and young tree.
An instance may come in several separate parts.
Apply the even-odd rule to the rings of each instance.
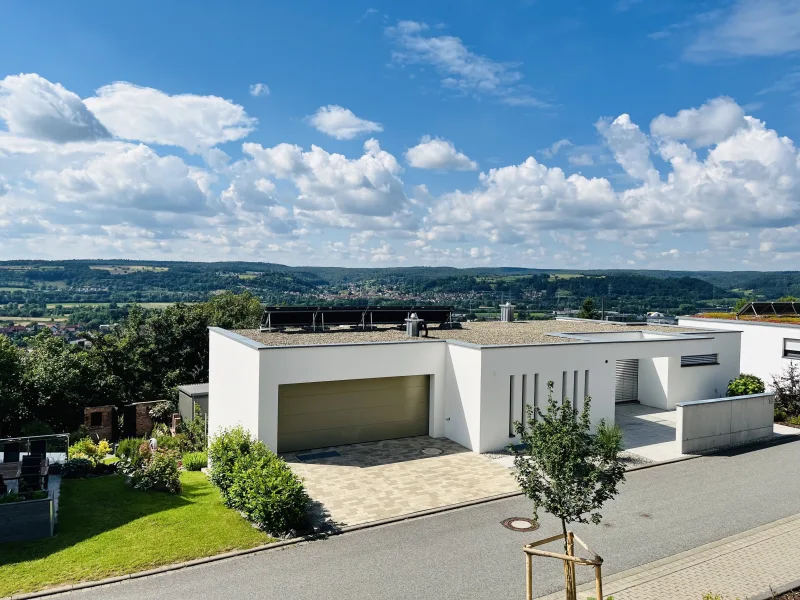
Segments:
[[[500,525],[530,512],[528,500],[512,498],[61,597],[521,599],[522,545],[560,529],[551,518],[533,533]],[[604,558],[606,575],[800,513],[800,441],[629,473],[602,512],[603,524],[574,530]],[[537,595],[558,589],[557,561],[534,568]],[[579,569],[581,582],[590,578]]]

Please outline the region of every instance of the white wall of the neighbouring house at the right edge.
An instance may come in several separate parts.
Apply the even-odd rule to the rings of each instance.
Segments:
[[[772,387],[772,376],[783,372],[790,362],[783,358],[783,340],[800,340],[800,326],[797,325],[691,317],[680,317],[678,323],[687,327],[741,331],[741,372],[760,377],[767,388]]]

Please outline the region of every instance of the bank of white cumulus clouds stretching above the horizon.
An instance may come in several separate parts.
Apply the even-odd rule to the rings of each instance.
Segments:
[[[380,127],[353,118],[326,127],[343,139]],[[800,256],[800,153],[731,98],[657,115],[649,129],[627,114],[600,119],[607,175],[588,155],[566,162],[594,176],[531,156],[462,189],[437,180],[436,193],[419,180],[409,193],[404,177],[424,171],[406,173],[375,139],[354,155],[243,141],[231,158],[217,147],[255,125],[215,96],[117,83],[82,101],[38,75],[0,80],[0,257],[722,268]],[[578,147],[540,155],[564,148]],[[477,169],[438,138],[405,159]]]

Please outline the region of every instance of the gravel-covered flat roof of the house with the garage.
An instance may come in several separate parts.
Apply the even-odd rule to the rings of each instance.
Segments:
[[[234,333],[260,342],[266,346],[315,346],[325,344],[369,344],[377,342],[409,342],[425,340],[451,340],[478,346],[511,346],[524,344],[560,344],[584,340],[561,337],[557,333],[624,333],[644,331],[648,333],[699,333],[708,329],[643,323],[612,323],[587,320],[548,321],[475,321],[462,323],[460,329],[428,329],[428,337],[412,338],[397,328],[381,328],[372,331],[353,329],[331,329],[325,332],[310,331],[259,331],[237,329]]]

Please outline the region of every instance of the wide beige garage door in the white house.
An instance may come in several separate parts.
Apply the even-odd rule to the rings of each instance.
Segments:
[[[278,388],[278,452],[428,434],[430,377]]]

